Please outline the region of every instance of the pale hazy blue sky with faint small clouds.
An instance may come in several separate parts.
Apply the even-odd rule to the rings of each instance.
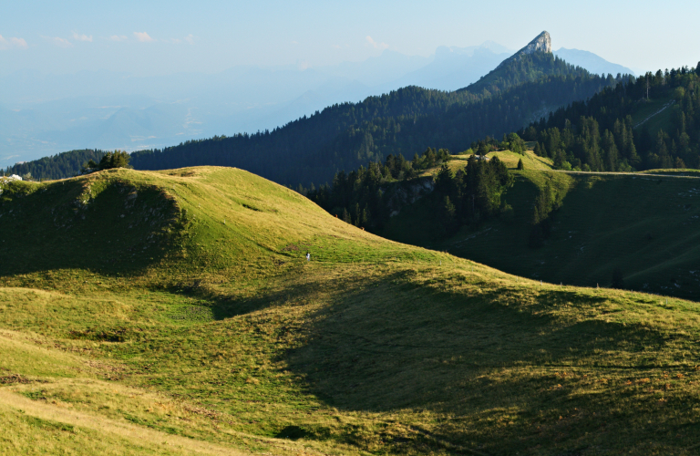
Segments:
[[[589,50],[634,70],[695,66],[699,16],[697,1],[24,0],[2,6],[0,75],[314,67],[384,49],[428,56],[486,40],[518,49],[542,30],[554,49]]]

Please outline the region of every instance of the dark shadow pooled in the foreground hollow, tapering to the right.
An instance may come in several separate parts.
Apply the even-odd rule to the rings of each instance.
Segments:
[[[387,285],[395,281],[404,285]],[[308,327],[308,344],[290,353],[290,362],[314,394],[339,409],[441,408],[451,390],[483,372],[578,363],[633,368],[605,354],[639,353],[666,341],[638,326],[557,313],[568,304],[584,315],[603,298],[565,290],[528,293],[524,297],[536,301],[525,305],[517,289],[459,294],[387,277],[338,296],[334,306],[310,318],[319,323]]]

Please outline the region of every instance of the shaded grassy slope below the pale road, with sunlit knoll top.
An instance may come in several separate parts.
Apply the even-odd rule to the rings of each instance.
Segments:
[[[510,151],[490,155],[499,156],[516,175],[504,196],[513,208],[508,216],[465,227],[451,239],[438,241],[429,216],[433,208],[419,200],[392,218],[382,235],[557,284],[610,286],[613,272],[619,270],[626,289],[700,296],[696,171],[563,173],[552,171],[550,159],[531,151],[525,156]],[[515,170],[520,158],[524,171]],[[455,159],[449,162],[453,170],[464,166],[466,157]],[[528,242],[531,207],[545,181],[565,196],[553,216],[551,237],[533,249]]]

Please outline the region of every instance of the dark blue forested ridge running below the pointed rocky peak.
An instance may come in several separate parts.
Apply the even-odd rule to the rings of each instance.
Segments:
[[[329,181],[340,170],[384,161],[389,154],[410,157],[431,146],[464,150],[473,140],[519,130],[530,120],[545,115],[547,109],[590,97],[616,83],[615,78],[598,76],[550,77],[482,96],[477,101],[451,104],[448,98],[453,94],[403,88],[374,101],[365,100],[386,105],[386,109],[345,106],[347,116],[331,112],[338,122],[325,119],[324,110],[272,132],[216,137],[165,150],[134,152],[132,164],[146,170],[236,166],[283,184],[308,186],[311,182]],[[419,110],[412,108],[416,100],[426,101],[430,112],[416,113]],[[389,109],[394,102],[405,104],[406,113],[385,115],[386,111],[398,110]],[[331,111],[334,109],[343,110],[338,107]],[[355,115],[357,111],[363,115]]]

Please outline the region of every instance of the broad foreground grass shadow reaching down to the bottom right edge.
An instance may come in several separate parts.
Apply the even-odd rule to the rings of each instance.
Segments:
[[[542,454],[583,454],[616,431],[610,445],[625,448],[648,435],[648,417],[665,417],[622,382],[596,389],[600,378],[660,373],[677,342],[648,326],[596,319],[610,311],[603,297],[509,286],[440,291],[405,274],[363,288],[310,317],[307,343],[288,353],[309,392],[332,407],[408,413],[418,440],[489,454],[538,445]],[[676,426],[683,417],[674,417],[656,425],[655,441],[675,444],[676,428],[694,426]]]

